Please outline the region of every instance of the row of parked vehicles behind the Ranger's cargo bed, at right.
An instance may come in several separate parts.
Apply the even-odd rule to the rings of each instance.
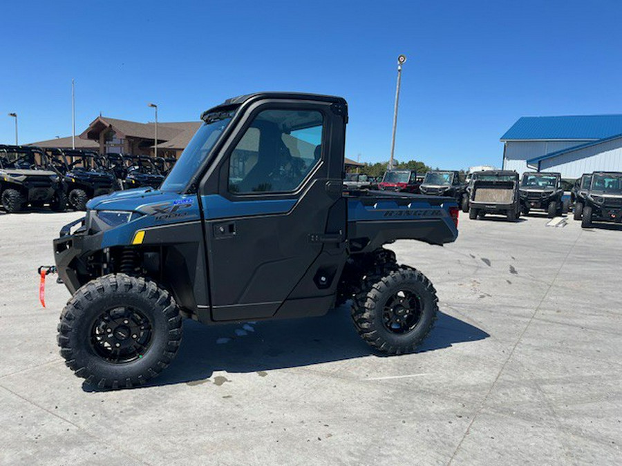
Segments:
[[[549,218],[574,212],[574,220],[589,228],[592,222],[622,222],[622,173],[586,173],[569,184],[560,173],[478,171],[460,179],[458,171],[431,171],[423,177],[411,170],[390,170],[380,180],[360,174],[346,175],[346,190],[377,189],[453,197],[471,220],[504,215],[516,222],[532,210]]]

